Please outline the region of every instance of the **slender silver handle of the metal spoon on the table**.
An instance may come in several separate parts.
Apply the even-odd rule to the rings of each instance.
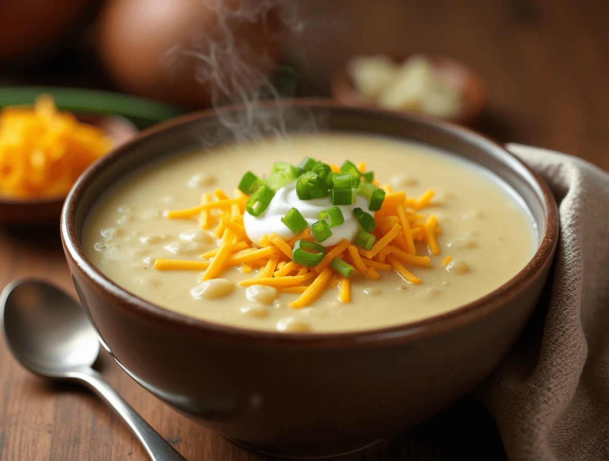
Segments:
[[[138,413],[129,406],[118,392],[105,381],[103,376],[93,368],[75,371],[71,377],[82,381],[87,387],[110,405],[116,413],[127,423],[133,434],[144,445],[152,461],[186,461],[175,448],[150,427]]]

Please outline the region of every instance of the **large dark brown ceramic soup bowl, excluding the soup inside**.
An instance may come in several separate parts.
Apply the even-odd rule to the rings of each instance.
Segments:
[[[231,139],[211,111],[144,130],[97,161],[68,195],[62,241],[82,304],[104,347],[144,388],[204,426],[259,451],[319,456],[349,451],[409,428],[470,392],[510,350],[540,296],[558,237],[547,186],[502,146],[433,119],[300,100],[286,113],[329,132],[428,143],[482,164],[523,198],[540,246],[529,264],[487,296],[406,325],[350,333],[276,333],[217,325],[130,294],[83,253],[91,206],[142,164]],[[286,103],[287,105],[287,103]],[[256,108],[269,120],[270,105]],[[224,117],[243,113],[227,108]],[[299,121],[296,123],[294,121]],[[226,135],[226,136],[225,136]],[[218,138],[216,138],[218,139]]]

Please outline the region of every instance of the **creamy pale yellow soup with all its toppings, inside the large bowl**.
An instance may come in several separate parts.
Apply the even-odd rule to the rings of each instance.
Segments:
[[[501,286],[537,248],[526,206],[495,175],[428,146],[356,135],[233,144],[143,167],[98,200],[83,243],[108,278],[163,308],[286,332],[443,314]]]

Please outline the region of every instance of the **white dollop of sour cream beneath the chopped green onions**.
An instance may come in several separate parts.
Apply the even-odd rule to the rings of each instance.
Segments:
[[[249,213],[244,214],[245,233],[255,243],[258,243],[263,236],[270,235],[273,232],[283,239],[291,239],[296,234],[281,222],[281,218],[286,216],[290,208],[296,208],[300,211],[300,214],[309,223],[310,229],[311,225],[317,222],[317,214],[322,209],[329,208],[330,206],[332,206],[332,203],[329,197],[314,200],[298,199],[296,183],[290,183],[275,193],[275,197],[271,200],[269,207],[260,216],[255,217]],[[354,208],[361,208],[372,216],[375,214],[374,211],[368,211],[367,200],[359,195],[356,195],[353,205],[339,205],[339,208],[342,211],[345,222],[331,228],[332,235],[321,242],[324,247],[332,247],[342,239],[347,239],[350,242],[353,241],[357,230],[359,230],[359,223],[355,219],[355,216],[353,216]]]

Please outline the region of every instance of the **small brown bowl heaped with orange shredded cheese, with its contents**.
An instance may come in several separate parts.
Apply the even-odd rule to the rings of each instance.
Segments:
[[[41,94],[33,106],[0,111],[0,223],[53,222],[91,163],[138,132],[127,119],[58,110]]]

